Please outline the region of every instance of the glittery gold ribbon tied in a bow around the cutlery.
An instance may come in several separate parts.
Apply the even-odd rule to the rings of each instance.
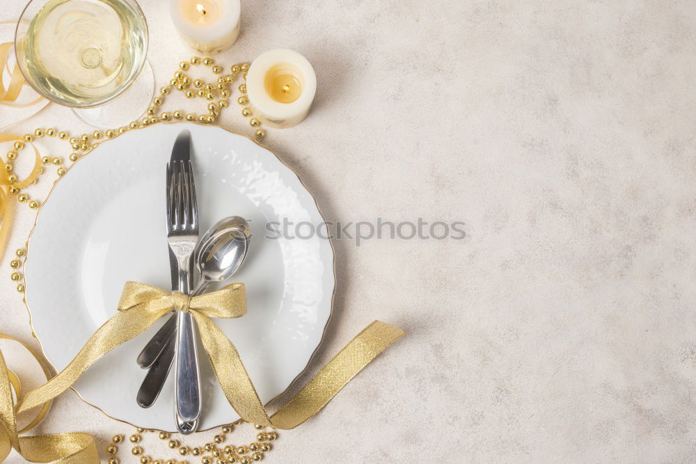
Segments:
[[[128,282],[118,309],[119,312],[90,337],[63,371],[19,401],[18,412],[54,399],[102,355],[136,337],[172,309],[189,311],[196,320],[205,353],[226,398],[239,417],[246,422],[274,428],[294,428],[315,415],[374,357],[404,336],[404,332],[397,327],[375,320],[335,355],[298,394],[269,417],[239,358],[237,348],[210,320],[246,314],[244,284],[230,284],[219,291],[189,298],[180,293],[169,294],[159,288]]]

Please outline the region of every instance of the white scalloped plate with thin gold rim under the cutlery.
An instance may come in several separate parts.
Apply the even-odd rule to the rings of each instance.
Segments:
[[[177,134],[191,131],[201,233],[222,217],[251,221],[248,256],[232,281],[244,282],[248,314],[216,320],[235,343],[267,403],[307,366],[331,315],[333,249],[322,238],[268,237],[267,222],[322,224],[313,196],[266,148],[220,127],[158,124],[106,141],[56,184],[29,238],[26,304],[49,361],[63,369],[116,312],[125,281],[171,288],[165,233],[164,171]],[[136,357],[160,320],[94,364],[74,385],[106,415],[172,431],[173,375],[155,405],[136,392],[145,371]],[[199,429],[239,418],[201,350]],[[173,372],[173,371],[172,371]]]

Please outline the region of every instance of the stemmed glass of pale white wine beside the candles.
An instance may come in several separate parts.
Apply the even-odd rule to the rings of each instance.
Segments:
[[[155,92],[147,52],[148,24],[135,0],[31,0],[15,32],[26,82],[96,127],[145,112]]]

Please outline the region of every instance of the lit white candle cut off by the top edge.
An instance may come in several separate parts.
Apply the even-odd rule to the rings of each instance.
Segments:
[[[239,36],[239,0],[170,0],[169,6],[180,36],[200,53],[224,52]]]

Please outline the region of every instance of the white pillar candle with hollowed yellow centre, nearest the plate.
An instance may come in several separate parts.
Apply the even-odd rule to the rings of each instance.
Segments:
[[[251,63],[246,75],[253,114],[270,127],[290,127],[302,121],[316,91],[314,68],[292,50],[265,52]]]

